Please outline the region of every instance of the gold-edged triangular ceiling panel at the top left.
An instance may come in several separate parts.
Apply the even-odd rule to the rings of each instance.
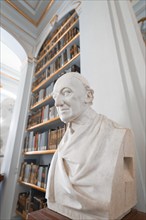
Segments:
[[[37,27],[50,10],[54,0],[5,0],[5,2]]]

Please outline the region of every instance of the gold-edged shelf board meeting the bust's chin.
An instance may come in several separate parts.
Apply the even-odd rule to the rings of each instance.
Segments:
[[[43,122],[43,123],[34,125],[32,127],[29,127],[27,129],[27,131],[45,130],[45,129],[49,129],[50,127],[51,128],[56,128],[57,125],[59,126],[61,124],[63,124],[63,122],[61,122],[59,117],[56,117],[56,118],[52,118],[52,119],[50,119],[46,122]]]

